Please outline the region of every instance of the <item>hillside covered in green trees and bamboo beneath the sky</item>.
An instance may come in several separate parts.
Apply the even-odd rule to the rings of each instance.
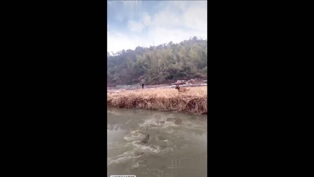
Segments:
[[[107,52],[108,87],[142,79],[145,85],[155,85],[194,78],[207,79],[207,40],[193,37],[178,44]]]

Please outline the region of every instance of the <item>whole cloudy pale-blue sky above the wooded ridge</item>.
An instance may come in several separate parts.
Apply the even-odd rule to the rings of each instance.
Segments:
[[[108,0],[107,51],[207,38],[206,0]]]

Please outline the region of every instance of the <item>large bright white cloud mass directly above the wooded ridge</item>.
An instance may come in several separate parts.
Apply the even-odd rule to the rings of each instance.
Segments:
[[[144,12],[139,21],[129,20],[127,27],[131,33],[117,32],[119,29],[114,32],[111,29],[107,33],[108,51],[134,50],[142,45],[149,47],[153,41],[157,46],[170,41],[179,43],[193,36],[207,38],[207,1],[168,3],[156,14],[150,16]],[[142,32],[145,28],[148,32]]]

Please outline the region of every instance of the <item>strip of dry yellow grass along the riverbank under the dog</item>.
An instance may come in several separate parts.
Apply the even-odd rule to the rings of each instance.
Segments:
[[[144,89],[107,93],[107,105],[119,108],[181,111],[207,114],[207,87],[193,87],[185,93],[177,89]]]

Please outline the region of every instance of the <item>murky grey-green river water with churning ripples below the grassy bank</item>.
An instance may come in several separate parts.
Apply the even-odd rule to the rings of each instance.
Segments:
[[[107,108],[110,175],[206,177],[207,116]]]

